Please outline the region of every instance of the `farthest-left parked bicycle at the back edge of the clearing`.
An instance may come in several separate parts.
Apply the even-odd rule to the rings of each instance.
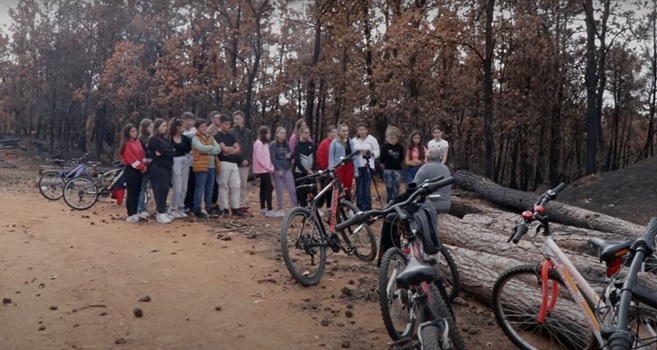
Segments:
[[[63,159],[51,159],[50,161],[62,167],[62,170],[43,171],[38,181],[39,192],[41,192],[46,199],[55,201],[62,198],[64,195],[64,186],[70,179],[74,177],[93,177],[96,174],[96,166],[100,163],[82,163],[82,161],[90,154],[91,153],[85,153],[82,157],[73,158],[69,161]],[[63,167],[68,164],[74,164],[74,168],[71,170],[63,170]]]

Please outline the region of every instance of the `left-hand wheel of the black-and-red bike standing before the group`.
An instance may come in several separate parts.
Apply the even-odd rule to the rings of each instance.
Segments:
[[[285,266],[306,287],[319,283],[326,267],[326,243],[317,225],[308,209],[296,207],[285,215],[281,228]]]

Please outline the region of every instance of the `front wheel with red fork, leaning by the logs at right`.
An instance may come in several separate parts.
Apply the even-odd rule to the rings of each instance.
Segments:
[[[558,291],[557,301],[544,322],[538,322],[543,299],[541,269],[541,265],[516,266],[497,279],[492,299],[497,323],[520,349],[591,349],[597,341],[586,316],[578,311],[580,306],[555,271],[550,271],[548,285],[550,299]]]

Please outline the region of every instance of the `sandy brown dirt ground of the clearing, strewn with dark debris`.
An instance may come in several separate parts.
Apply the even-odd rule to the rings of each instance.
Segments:
[[[34,166],[12,164],[0,169],[2,350],[388,348],[373,263],[332,255],[304,288],[282,262],[280,219],[128,224],[109,199],[47,201]],[[470,349],[512,348],[489,310],[456,308]]]

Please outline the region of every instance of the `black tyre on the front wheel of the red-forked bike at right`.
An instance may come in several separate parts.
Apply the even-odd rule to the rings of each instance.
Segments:
[[[504,334],[520,349],[523,350],[547,350],[547,349],[568,349],[568,350],[579,350],[579,349],[593,349],[597,345],[597,340],[593,336],[593,333],[589,330],[585,321],[580,319],[583,315],[578,313],[573,315],[572,312],[567,310],[579,310],[579,306],[576,305],[575,301],[572,299],[567,300],[562,298],[564,292],[570,296],[570,292],[565,287],[561,277],[555,271],[551,270],[548,278],[559,284],[559,299],[555,305],[556,309],[546,315],[545,321],[543,324],[539,324],[536,321],[536,316],[538,315],[538,310],[541,306],[542,290],[541,290],[541,265],[520,265],[514,268],[511,268],[504,273],[502,273],[495,285],[493,286],[493,295],[492,295],[492,306],[493,312],[495,313],[495,319],[497,324],[502,328]],[[524,279],[521,279],[525,276]],[[509,286],[509,282],[517,279],[517,285]],[[526,303],[526,306],[518,308],[517,314],[509,314],[503,310],[504,302],[502,300],[503,293],[505,292],[505,287],[509,286],[509,302],[512,300],[515,302],[522,302],[524,299],[530,299],[528,290],[531,291],[532,287],[536,288],[539,292],[537,297],[534,297],[533,300],[530,300]],[[515,288],[516,290],[512,290]],[[585,299],[587,299],[585,297]],[[589,306],[592,306],[592,303],[587,299]],[[561,316],[563,314],[564,316]],[[579,316],[579,318],[578,318]],[[574,319],[573,319],[574,318]],[[538,333],[529,340],[530,335],[527,334],[525,337],[520,335],[510,324],[510,320],[513,320],[514,323],[520,323],[523,325],[525,331],[536,330]],[[517,321],[516,321],[517,320]],[[566,323],[567,322],[567,323]],[[543,335],[543,332],[547,333],[549,339]],[[574,335],[575,339],[564,339],[568,335]],[[529,341],[536,341],[540,343],[540,346],[532,345]],[[552,344],[552,347],[545,346],[547,341],[558,341],[559,344]]]

